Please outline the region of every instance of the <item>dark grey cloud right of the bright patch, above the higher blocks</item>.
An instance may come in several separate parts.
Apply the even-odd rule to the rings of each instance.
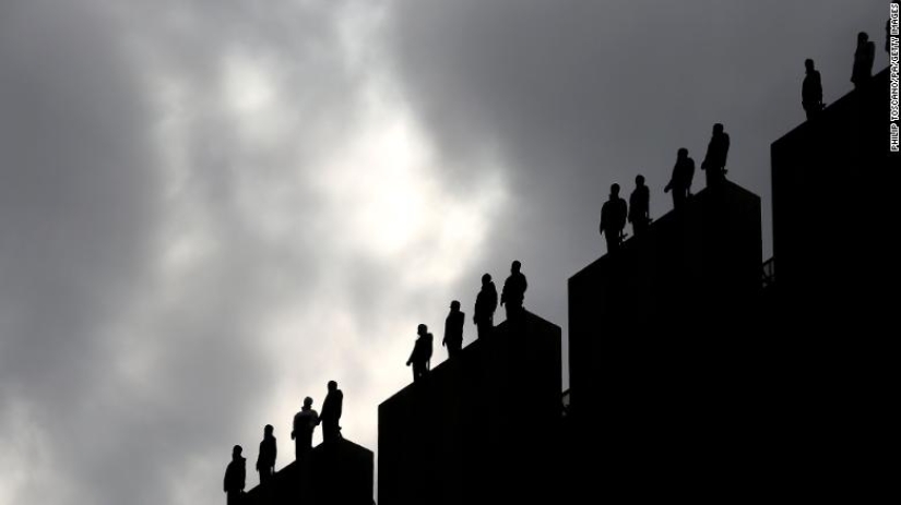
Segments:
[[[856,33],[879,33],[887,7],[401,0],[392,13],[394,68],[442,156],[465,165],[489,146],[506,160],[515,201],[484,269],[506,277],[519,257],[526,305],[565,323],[566,279],[603,253],[609,185],[628,194],[643,173],[661,216],[677,148],[700,163],[714,122],[732,135],[728,177],[763,197],[771,251],[769,144],[803,120],[803,61],[837,99]]]

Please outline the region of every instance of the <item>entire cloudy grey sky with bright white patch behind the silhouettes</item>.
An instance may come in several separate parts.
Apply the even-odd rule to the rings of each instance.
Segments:
[[[286,465],[329,380],[376,449],[418,323],[440,341],[449,302],[469,320],[518,258],[526,308],[566,327],[609,184],[643,173],[661,216],[677,148],[700,163],[718,121],[769,257],[769,145],[804,118],[804,59],[834,101],[858,31],[887,64],[887,15],[0,0],[0,505],[221,504],[232,446],[256,485],[271,423]]]

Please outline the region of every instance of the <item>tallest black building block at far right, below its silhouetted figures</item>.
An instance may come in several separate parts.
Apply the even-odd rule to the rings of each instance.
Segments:
[[[901,156],[889,151],[889,75],[771,146],[776,405],[796,488],[859,501],[879,474],[891,396],[886,335],[897,326]],[[893,356],[888,351],[888,356]],[[808,491],[809,494],[809,491]]]

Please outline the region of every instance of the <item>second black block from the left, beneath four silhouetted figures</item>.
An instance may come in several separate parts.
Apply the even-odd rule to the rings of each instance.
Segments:
[[[552,496],[559,421],[560,328],[525,311],[379,406],[378,503]]]

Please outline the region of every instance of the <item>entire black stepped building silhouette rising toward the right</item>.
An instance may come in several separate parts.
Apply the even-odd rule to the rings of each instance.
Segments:
[[[570,389],[560,328],[520,301],[379,406],[378,503],[859,501],[893,419],[870,349],[897,309],[888,96],[885,70],[773,142],[778,276],[760,199],[725,180],[687,199],[680,154],[677,212],[568,281]],[[329,389],[329,443],[242,503],[372,503],[374,455],[340,436]]]

